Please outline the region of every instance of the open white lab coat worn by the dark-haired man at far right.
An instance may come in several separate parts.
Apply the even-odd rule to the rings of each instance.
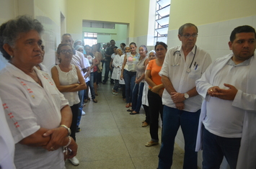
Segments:
[[[197,145],[195,150],[201,150],[202,148],[202,127],[203,119],[206,117],[206,103],[207,99],[207,90],[211,87],[211,81],[215,77],[216,73],[221,70],[224,65],[231,58],[232,53],[226,55],[223,58],[215,60],[206,70],[202,78],[196,81],[198,93],[205,98],[201,108],[201,114],[198,125],[198,138]],[[255,53],[256,55],[256,53]],[[256,168],[256,59],[255,55],[252,56],[250,63],[250,71],[247,77],[247,90],[246,91],[237,91],[237,95],[234,98],[232,106],[236,106],[240,109],[244,109],[244,120],[243,120],[243,129],[242,129],[242,140],[241,146],[239,149],[239,156],[237,161],[237,169],[251,169]],[[211,70],[211,68],[213,68]],[[209,81],[206,81],[206,75],[209,78]],[[211,76],[209,76],[211,75]],[[205,83],[200,83],[200,82]],[[198,85],[200,83],[200,85]]]

